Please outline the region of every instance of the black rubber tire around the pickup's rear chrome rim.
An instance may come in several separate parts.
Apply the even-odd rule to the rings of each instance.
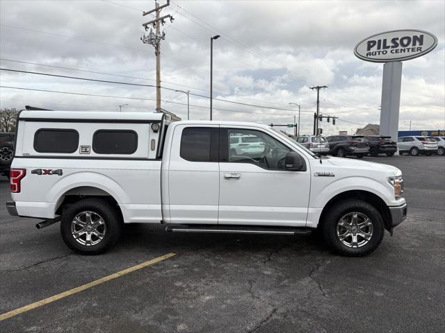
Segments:
[[[81,244],[81,242],[84,241],[88,243],[86,235],[88,234],[88,229],[86,229],[88,227],[86,225],[82,227],[77,223],[73,223],[76,216],[80,216],[79,219],[81,220],[82,214],[87,212],[90,212],[90,216],[94,216],[90,218],[92,223],[98,223],[100,221],[100,219],[97,219],[97,216],[102,218],[103,221],[97,228],[90,230],[90,245]],[[94,214],[91,214],[91,212]],[[93,221],[94,219],[96,219],[96,221]],[[118,241],[122,233],[122,225],[122,217],[115,205],[104,199],[86,198],[65,207],[62,214],[62,221],[60,222],[60,233],[65,244],[75,253],[81,255],[98,255],[104,253]],[[83,239],[83,235],[77,237],[79,241],[74,239],[72,228],[74,228],[74,232],[86,232],[86,239]],[[76,228],[81,228],[81,230],[76,230]],[[99,237],[93,234],[94,232],[100,232],[100,234],[103,232],[104,234],[103,238],[98,241],[97,244],[92,244],[92,242],[99,239]]]

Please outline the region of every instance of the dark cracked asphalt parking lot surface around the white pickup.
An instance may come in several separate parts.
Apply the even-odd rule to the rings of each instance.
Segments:
[[[0,321],[0,332],[443,332],[445,158],[365,157],[403,171],[408,217],[367,257],[314,236],[171,234],[128,225],[75,255],[58,224],[9,216],[0,178],[0,315],[147,260],[168,259]]]

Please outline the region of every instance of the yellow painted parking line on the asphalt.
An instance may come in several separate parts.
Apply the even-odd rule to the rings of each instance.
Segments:
[[[138,264],[136,266],[129,267],[127,269],[124,269],[123,271],[119,271],[117,273],[113,273],[111,275],[107,275],[106,277],[101,278],[99,280],[95,280],[95,281],[92,281],[90,283],[83,284],[82,286],[76,287],[74,289],[70,289],[68,291],[64,291],[63,293],[58,293],[57,295],[51,296],[49,298],[45,298],[44,300],[39,300],[37,302],[33,302],[33,303],[29,304],[29,305],[26,305],[24,307],[20,307],[19,309],[15,309],[13,311],[6,312],[6,314],[1,314],[0,315],[0,321],[4,321],[5,319],[11,318],[13,316],[17,316],[17,314],[22,314],[22,313],[24,313],[26,311],[35,309],[37,307],[41,307],[42,305],[49,304],[51,302],[54,302],[55,300],[60,300],[60,298],[71,296],[74,293],[79,293],[79,292],[81,292],[81,291],[83,291],[85,289],[88,289],[88,288],[91,288],[91,287],[95,287],[95,286],[97,286],[97,284],[102,284],[104,282],[113,280],[115,278],[119,278],[122,275],[125,275],[125,274],[128,274],[128,273],[137,271],[140,268],[144,268],[144,267],[150,266],[152,264],[156,264],[157,262],[161,262],[161,261],[163,261],[165,259],[173,257],[174,255],[176,255],[176,253],[168,253],[167,255],[163,255],[161,257],[154,258],[152,260],[149,260],[148,262],[143,262],[142,264]]]

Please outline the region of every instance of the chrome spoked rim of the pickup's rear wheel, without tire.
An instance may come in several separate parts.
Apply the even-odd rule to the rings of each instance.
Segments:
[[[74,240],[83,246],[99,244],[105,237],[106,226],[102,216],[95,212],[80,212],[71,222],[71,234]]]

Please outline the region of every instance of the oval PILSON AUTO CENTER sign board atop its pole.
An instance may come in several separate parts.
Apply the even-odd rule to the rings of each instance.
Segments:
[[[367,37],[355,46],[358,58],[371,62],[410,60],[432,51],[437,37],[421,30],[394,30]]]

